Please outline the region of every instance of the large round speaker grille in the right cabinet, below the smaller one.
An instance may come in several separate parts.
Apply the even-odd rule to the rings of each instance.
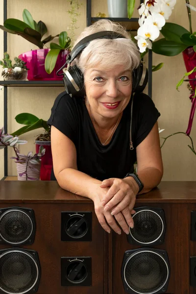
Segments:
[[[132,254],[124,266],[126,284],[139,294],[157,293],[169,277],[169,267],[158,253],[142,250]]]

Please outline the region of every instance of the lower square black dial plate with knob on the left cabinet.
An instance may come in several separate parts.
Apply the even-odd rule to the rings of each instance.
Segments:
[[[62,257],[61,286],[91,286],[91,257]]]

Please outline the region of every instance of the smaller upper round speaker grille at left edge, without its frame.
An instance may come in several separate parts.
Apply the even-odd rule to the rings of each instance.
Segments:
[[[22,210],[7,210],[0,217],[0,237],[9,244],[21,244],[31,235],[33,224]]]

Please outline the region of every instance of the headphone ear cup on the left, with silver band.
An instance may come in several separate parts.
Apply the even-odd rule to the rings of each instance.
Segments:
[[[63,83],[65,90],[72,97],[84,97],[84,77],[80,69],[76,66],[70,66],[69,70],[64,73]]]

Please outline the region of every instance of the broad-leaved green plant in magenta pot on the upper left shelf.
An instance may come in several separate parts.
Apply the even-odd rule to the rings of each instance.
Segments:
[[[71,40],[67,36],[67,32],[63,31],[56,36],[44,37],[48,32],[47,26],[42,21],[36,23],[27,9],[23,11],[23,20],[24,22],[17,19],[7,19],[3,25],[0,25],[0,28],[8,33],[23,37],[39,48],[19,55],[19,58],[24,60],[29,68],[27,79],[61,80],[62,77],[56,75],[56,71],[66,63],[69,54]],[[55,37],[59,37],[59,45],[51,43],[50,49],[44,49],[44,46]]]

